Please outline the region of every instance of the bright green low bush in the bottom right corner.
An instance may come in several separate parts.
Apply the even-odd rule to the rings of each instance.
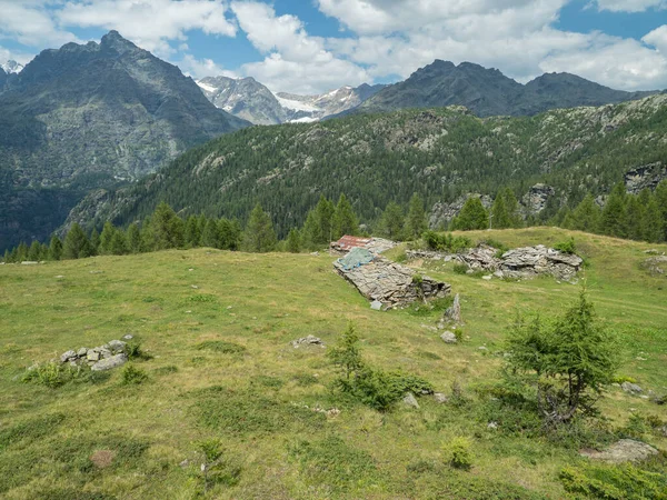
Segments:
[[[606,500],[666,500],[667,474],[634,466],[566,467],[559,473],[566,491]]]

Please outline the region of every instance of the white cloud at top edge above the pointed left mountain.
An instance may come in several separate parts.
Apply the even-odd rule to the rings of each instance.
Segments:
[[[167,57],[173,53],[169,40],[185,41],[188,30],[236,36],[227,9],[219,0],[73,0],[56,16],[62,26],[116,29],[142,48]]]

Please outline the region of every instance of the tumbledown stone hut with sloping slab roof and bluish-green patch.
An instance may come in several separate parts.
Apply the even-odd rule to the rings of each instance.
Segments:
[[[404,307],[417,300],[444,298],[451,290],[447,283],[418,277],[405,266],[359,248],[334,262],[334,268],[364,297],[374,303],[381,303],[384,309]]]

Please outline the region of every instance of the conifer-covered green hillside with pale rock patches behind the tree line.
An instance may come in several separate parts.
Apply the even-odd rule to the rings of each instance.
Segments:
[[[532,118],[479,119],[464,108],[354,116],[317,124],[253,127],[195,148],[139,184],[98,192],[69,222],[127,224],[166,201],[182,216],[246,220],[260,202],[279,237],[321,194],[351,200],[361,222],[417,192],[427,207],[464,193],[521,198],[555,188],[540,220],[587,192],[605,194],[628,170],[667,159],[667,96]]]

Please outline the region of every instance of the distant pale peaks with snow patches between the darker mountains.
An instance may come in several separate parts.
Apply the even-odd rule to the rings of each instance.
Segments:
[[[327,93],[271,92],[253,78],[208,77],[197,81],[218,108],[256,124],[318,121],[358,107],[385,86],[341,87]]]

